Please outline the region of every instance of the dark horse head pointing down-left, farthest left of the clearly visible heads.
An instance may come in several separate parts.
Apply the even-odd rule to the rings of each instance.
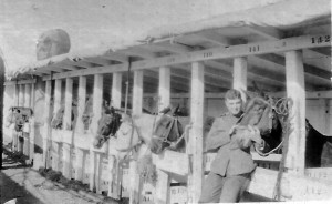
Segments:
[[[103,108],[102,118],[98,120],[97,132],[93,142],[94,147],[101,149],[110,136],[115,136],[121,125],[121,114],[113,106]]]

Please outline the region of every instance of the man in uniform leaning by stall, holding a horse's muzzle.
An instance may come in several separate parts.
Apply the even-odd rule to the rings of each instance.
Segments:
[[[218,154],[205,180],[199,203],[239,202],[256,167],[250,146],[262,149],[264,145],[257,128],[249,126],[243,134],[232,134],[242,115],[241,94],[238,90],[229,90],[225,98],[228,112],[216,119],[207,135],[207,151],[218,151]]]

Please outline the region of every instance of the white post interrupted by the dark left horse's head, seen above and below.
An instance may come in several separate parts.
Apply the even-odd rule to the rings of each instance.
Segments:
[[[122,88],[122,73],[113,73],[113,84],[112,84],[112,105],[116,109],[121,108],[121,88]],[[120,171],[120,161],[116,161],[115,155],[111,153],[114,152],[114,145],[108,145],[108,196],[113,198],[121,198],[121,177],[122,172]]]

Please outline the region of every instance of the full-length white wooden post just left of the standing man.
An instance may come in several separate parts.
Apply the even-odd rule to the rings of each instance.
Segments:
[[[193,62],[191,64],[191,122],[190,163],[193,172],[188,178],[188,203],[197,203],[200,196],[204,164],[203,164],[203,115],[204,115],[204,64]],[[189,173],[190,174],[190,173]]]

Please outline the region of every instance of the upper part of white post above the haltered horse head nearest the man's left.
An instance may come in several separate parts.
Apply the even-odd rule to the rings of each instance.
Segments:
[[[170,69],[159,68],[159,104],[158,111],[170,104]]]

